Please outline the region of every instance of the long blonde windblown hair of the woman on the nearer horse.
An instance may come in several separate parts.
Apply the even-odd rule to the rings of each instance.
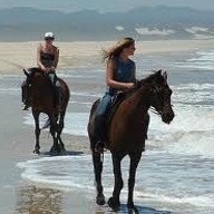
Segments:
[[[108,50],[103,49],[103,61],[106,61],[106,59],[110,59],[115,56],[119,56],[125,48],[128,48],[133,43],[135,43],[135,40],[133,38],[125,37],[121,38],[115,46],[113,46]]]

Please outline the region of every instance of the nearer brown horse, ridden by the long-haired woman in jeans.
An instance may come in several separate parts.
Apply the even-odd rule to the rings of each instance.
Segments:
[[[126,98],[120,103],[115,111],[110,124],[107,128],[107,136],[105,145],[111,153],[115,185],[113,196],[108,200],[108,205],[117,211],[119,208],[119,195],[123,188],[121,178],[121,159],[128,155],[130,158],[129,179],[128,179],[128,201],[127,207],[129,212],[138,213],[134,205],[134,186],[135,176],[142,153],[145,149],[145,139],[147,137],[148,128],[148,109],[150,107],[162,117],[162,120],[169,124],[174,118],[174,111],[171,105],[172,90],[167,84],[166,72],[162,70],[156,71],[149,77],[142,79],[136,86],[126,93]],[[103,158],[99,153],[94,149],[94,120],[95,111],[99,104],[96,100],[91,107],[88,135],[91,145],[94,173],[96,181],[98,205],[105,204],[105,196],[103,193],[101,172]]]

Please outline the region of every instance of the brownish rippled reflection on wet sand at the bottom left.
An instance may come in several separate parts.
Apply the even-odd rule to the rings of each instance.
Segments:
[[[16,214],[62,213],[62,193],[58,189],[26,186],[17,198]]]

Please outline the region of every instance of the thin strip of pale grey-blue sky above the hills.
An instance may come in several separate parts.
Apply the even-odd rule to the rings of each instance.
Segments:
[[[0,0],[0,9],[31,7],[64,12],[79,10],[127,11],[144,6],[179,6],[200,10],[213,10],[214,0]]]

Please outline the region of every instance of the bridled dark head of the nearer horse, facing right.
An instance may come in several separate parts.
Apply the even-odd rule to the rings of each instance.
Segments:
[[[149,76],[144,84],[148,82],[150,96],[150,106],[155,108],[155,111],[160,115],[162,120],[169,124],[174,118],[174,111],[171,105],[172,90],[167,84],[166,71],[162,74],[162,70],[156,71]]]

